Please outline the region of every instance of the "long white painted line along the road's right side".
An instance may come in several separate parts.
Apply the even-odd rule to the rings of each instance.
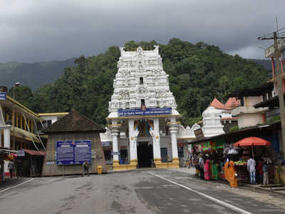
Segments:
[[[226,208],[232,209],[232,210],[237,211],[237,212],[239,212],[239,213],[252,214],[252,213],[247,212],[246,210],[242,210],[241,208],[237,208],[237,207],[234,206],[234,205],[231,205],[231,204],[229,204],[229,203],[225,203],[225,202],[222,201],[222,200],[219,200],[219,199],[217,199],[217,198],[213,198],[212,196],[206,195],[206,194],[204,194],[204,193],[200,193],[200,192],[198,192],[197,190],[193,190],[192,188],[189,188],[189,187],[187,187],[187,186],[185,186],[185,185],[182,185],[182,184],[180,184],[180,183],[176,183],[176,182],[174,182],[174,181],[172,181],[172,180],[169,180],[169,179],[167,179],[167,178],[164,178],[164,177],[162,177],[162,176],[160,176],[160,175],[156,175],[155,173],[151,173],[151,172],[148,172],[148,173],[150,173],[150,174],[152,174],[152,175],[155,175],[155,176],[157,176],[158,178],[161,178],[161,179],[163,179],[163,180],[167,180],[168,182],[173,183],[173,184],[175,184],[175,185],[179,185],[180,187],[185,188],[185,189],[187,189],[187,190],[190,190],[190,191],[192,191],[193,193],[197,193],[197,194],[199,194],[199,195],[202,195],[202,196],[204,196],[204,198],[208,198],[209,200],[212,200],[212,201],[214,201],[215,203],[219,203],[220,205],[223,205],[223,206],[226,207]]]

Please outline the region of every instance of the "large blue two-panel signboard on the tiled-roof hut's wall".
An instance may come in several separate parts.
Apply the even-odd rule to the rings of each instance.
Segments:
[[[74,165],[88,161],[91,164],[91,141],[56,142],[56,164]]]

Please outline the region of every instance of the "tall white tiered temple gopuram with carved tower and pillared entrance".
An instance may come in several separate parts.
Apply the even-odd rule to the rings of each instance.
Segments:
[[[180,114],[162,68],[159,46],[154,48],[120,48],[109,102],[109,125],[105,133],[100,133],[105,159],[113,161],[113,170],[178,168],[179,157],[187,156],[187,142],[195,138],[194,130],[200,128],[197,124],[184,128],[177,122]],[[214,120],[217,121],[210,124],[218,124],[217,132],[223,133],[220,118],[215,116]]]

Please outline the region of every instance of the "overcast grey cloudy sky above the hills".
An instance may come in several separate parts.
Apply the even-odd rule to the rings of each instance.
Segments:
[[[204,41],[263,58],[284,0],[0,0],[0,62],[95,55],[126,41]]]

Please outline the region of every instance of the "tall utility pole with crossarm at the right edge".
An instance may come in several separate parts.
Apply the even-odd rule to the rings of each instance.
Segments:
[[[283,35],[282,35],[283,36]],[[277,35],[275,31],[272,34],[267,34],[265,36],[260,36],[258,39],[266,40],[266,39],[274,39],[274,58],[276,62],[276,75],[274,78],[274,87],[277,89],[278,98],[279,98],[279,110],[280,110],[280,121],[281,121],[281,133],[282,133],[282,151],[285,153],[285,107],[284,107],[284,91],[283,91],[283,77],[281,76],[281,66],[280,66],[280,58],[281,51],[279,50],[278,39],[283,39],[285,37],[281,37]],[[273,69],[273,68],[272,68]]]

